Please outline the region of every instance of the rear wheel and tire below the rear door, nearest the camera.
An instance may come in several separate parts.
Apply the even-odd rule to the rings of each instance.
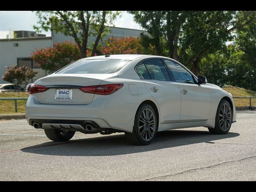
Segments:
[[[138,108],[132,133],[125,132],[127,140],[134,145],[148,145],[156,136],[158,120],[152,106],[144,104]]]

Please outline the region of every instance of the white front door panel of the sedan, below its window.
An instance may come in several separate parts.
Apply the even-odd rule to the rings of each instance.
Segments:
[[[207,120],[211,106],[209,89],[204,84],[177,84],[181,93],[180,122]]]

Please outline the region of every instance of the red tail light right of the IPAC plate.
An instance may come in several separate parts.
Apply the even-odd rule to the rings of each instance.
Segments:
[[[124,84],[107,84],[107,85],[94,85],[94,86],[86,86],[80,88],[82,92],[85,93],[94,93],[99,95],[110,95],[120,88],[122,88]]]

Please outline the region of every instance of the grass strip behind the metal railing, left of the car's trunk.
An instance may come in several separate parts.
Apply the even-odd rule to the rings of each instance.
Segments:
[[[0,93],[1,97],[28,97],[28,92],[3,92]],[[25,113],[26,100],[17,100],[18,113]],[[0,114],[13,114],[15,113],[14,100],[0,100]]]

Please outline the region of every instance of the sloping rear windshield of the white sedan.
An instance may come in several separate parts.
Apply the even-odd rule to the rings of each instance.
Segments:
[[[109,74],[118,72],[130,60],[120,59],[90,59],[76,61],[56,73],[72,74],[72,73],[90,73],[90,74]]]

